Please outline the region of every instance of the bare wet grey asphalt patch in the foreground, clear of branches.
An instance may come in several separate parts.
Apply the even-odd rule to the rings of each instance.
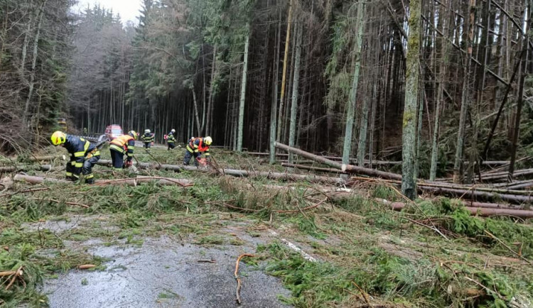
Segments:
[[[203,247],[170,238],[145,238],[141,247],[83,243],[88,252],[112,259],[104,271],[71,270],[47,280],[50,307],[237,307],[235,260],[251,246]],[[198,260],[216,260],[199,263]],[[286,307],[289,296],[276,277],[241,262],[242,306]]]

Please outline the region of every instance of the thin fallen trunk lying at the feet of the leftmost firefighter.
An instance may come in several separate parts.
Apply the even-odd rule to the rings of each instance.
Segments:
[[[30,184],[42,184],[44,182],[55,183],[72,183],[72,181],[58,180],[49,177],[33,177],[30,175],[15,175],[13,180],[18,182],[28,182]],[[137,186],[141,183],[151,182],[156,180],[159,185],[180,185],[182,187],[192,186],[194,183],[187,179],[174,179],[171,177],[134,177],[126,179],[114,179],[114,180],[96,180],[95,185],[129,185]]]

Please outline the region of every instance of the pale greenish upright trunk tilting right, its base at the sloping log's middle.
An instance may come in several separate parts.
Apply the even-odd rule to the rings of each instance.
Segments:
[[[362,0],[357,3],[357,35],[354,41],[354,55],[353,61],[355,61],[353,69],[352,89],[350,89],[350,98],[348,99],[348,111],[346,111],[346,127],[344,133],[344,145],[343,145],[343,164],[348,165],[350,163],[350,154],[352,152],[352,130],[355,114],[355,104],[357,104],[357,90],[359,87],[359,71],[361,67],[361,45],[362,45],[362,19],[365,14],[365,4]],[[366,132],[365,132],[366,133]]]

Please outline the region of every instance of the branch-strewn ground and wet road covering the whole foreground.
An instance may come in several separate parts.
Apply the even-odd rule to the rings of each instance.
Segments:
[[[285,170],[212,152],[222,167]],[[136,148],[141,162],[183,159],[183,149],[151,153]],[[52,163],[51,172],[27,173],[63,177],[65,162]],[[377,199],[403,199],[379,182],[331,199],[312,183],[139,172],[194,185],[16,182],[1,192],[0,272],[23,274],[0,276],[0,306],[236,307],[244,253],[253,255],[238,272],[249,307],[533,305],[530,221],[470,216],[430,196],[392,211]],[[96,166],[95,176],[135,175]],[[95,267],[79,269],[87,264]]]

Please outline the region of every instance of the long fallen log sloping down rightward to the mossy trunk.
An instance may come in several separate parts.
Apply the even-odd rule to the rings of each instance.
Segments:
[[[284,145],[283,143],[276,142],[275,145],[276,145],[276,148],[279,148],[281,150],[286,150],[287,152],[300,155],[301,157],[308,158],[310,160],[315,160],[318,163],[323,163],[324,165],[328,165],[330,167],[334,167],[334,168],[340,169],[348,173],[359,173],[362,175],[370,175],[371,177],[382,177],[388,180],[402,180],[402,175],[398,175],[396,173],[384,172],[384,171],[374,170],[374,169],[370,169],[366,167],[358,167],[355,165],[344,165],[344,164],[335,162],[333,160],[328,160],[327,158],[323,158],[321,156],[308,153],[298,148],[292,148],[289,145]]]

